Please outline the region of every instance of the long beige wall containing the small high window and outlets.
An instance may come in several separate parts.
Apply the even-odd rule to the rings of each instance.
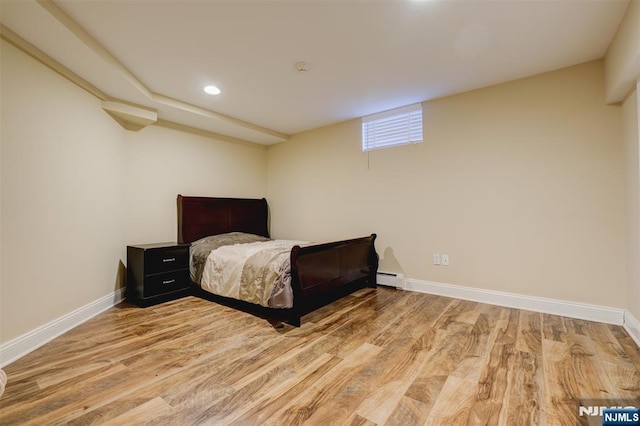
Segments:
[[[592,62],[428,102],[423,144],[369,156],[359,120],[296,135],[269,149],[272,232],[377,232],[381,267],[409,278],[626,307],[621,112],[603,81]]]

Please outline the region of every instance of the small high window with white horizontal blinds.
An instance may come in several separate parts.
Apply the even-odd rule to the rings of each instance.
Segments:
[[[422,104],[362,117],[362,150],[422,142]]]

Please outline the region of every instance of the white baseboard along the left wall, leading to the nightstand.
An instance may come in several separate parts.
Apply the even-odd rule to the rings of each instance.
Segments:
[[[0,345],[0,368],[25,356],[47,342],[71,330],[124,300],[119,289],[73,312]]]

